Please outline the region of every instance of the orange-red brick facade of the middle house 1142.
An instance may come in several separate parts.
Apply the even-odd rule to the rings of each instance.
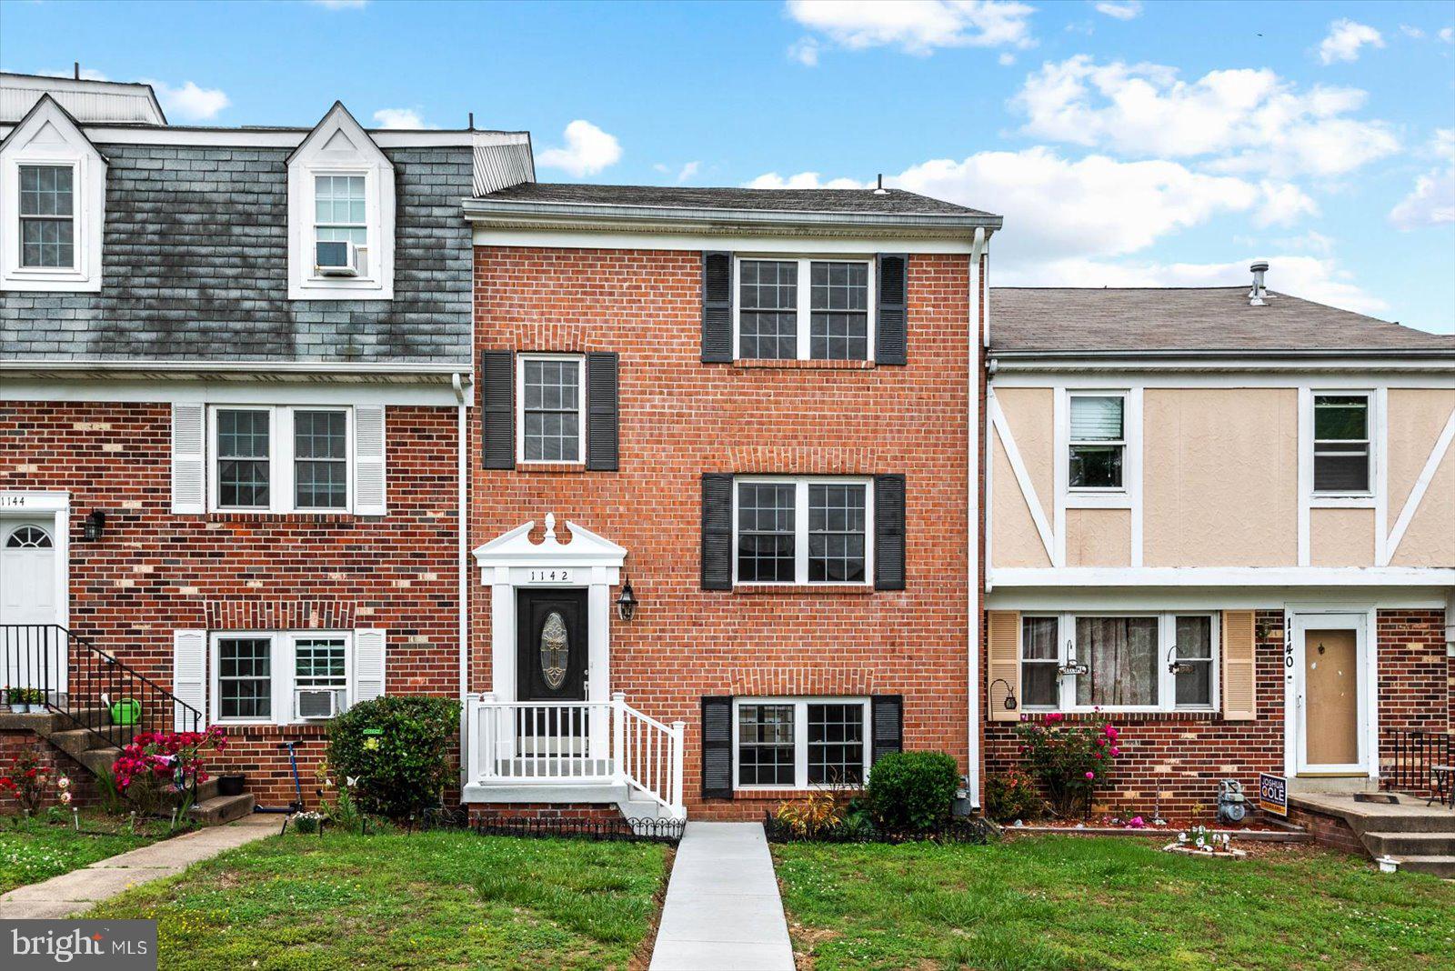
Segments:
[[[620,353],[621,471],[483,471],[476,423],[471,544],[554,512],[629,551],[642,605],[611,618],[611,688],[687,722],[693,818],[780,799],[701,798],[704,695],[904,695],[905,746],[963,766],[968,259],[909,257],[908,366],[703,363],[701,275],[698,251],[477,247],[477,350]],[[704,472],[904,474],[908,589],[701,590]],[[489,690],[479,571],[470,609],[471,690]]]

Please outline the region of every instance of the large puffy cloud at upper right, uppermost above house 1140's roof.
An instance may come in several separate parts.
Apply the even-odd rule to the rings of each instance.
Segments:
[[[1023,131],[1120,154],[1208,157],[1218,172],[1337,176],[1398,150],[1381,121],[1349,115],[1366,93],[1299,92],[1273,71],[1209,71],[1183,81],[1160,64],[1097,64],[1081,54],[1029,76],[1011,106]]]

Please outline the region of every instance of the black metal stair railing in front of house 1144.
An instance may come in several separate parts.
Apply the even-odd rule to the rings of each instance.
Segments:
[[[196,708],[58,624],[0,624],[0,683],[38,693],[47,711],[106,746],[207,727]]]

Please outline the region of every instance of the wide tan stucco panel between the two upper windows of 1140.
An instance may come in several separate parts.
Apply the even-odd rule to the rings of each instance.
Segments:
[[[1298,564],[1298,391],[1148,388],[1148,567]]]

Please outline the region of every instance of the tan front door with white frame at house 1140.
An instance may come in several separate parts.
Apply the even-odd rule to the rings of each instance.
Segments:
[[[1369,645],[1363,613],[1293,616],[1299,775],[1369,775]]]

